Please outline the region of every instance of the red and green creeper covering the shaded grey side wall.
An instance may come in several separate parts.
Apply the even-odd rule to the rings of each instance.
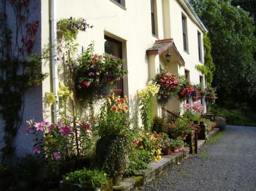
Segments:
[[[14,139],[24,113],[24,93],[40,84],[43,56],[33,53],[39,21],[29,20],[30,0],[1,0],[0,10],[0,115],[4,122],[2,163],[14,152]],[[7,8],[13,8],[7,12]],[[8,18],[14,15],[12,28]]]

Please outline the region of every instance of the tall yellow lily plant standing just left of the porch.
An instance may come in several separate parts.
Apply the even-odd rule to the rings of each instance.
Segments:
[[[158,93],[160,85],[149,81],[144,90],[138,90],[139,111],[141,112],[142,124],[145,130],[150,130],[153,123],[152,98]]]

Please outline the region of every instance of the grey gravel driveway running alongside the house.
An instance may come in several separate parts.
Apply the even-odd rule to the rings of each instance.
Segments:
[[[256,127],[229,126],[143,190],[256,190]]]

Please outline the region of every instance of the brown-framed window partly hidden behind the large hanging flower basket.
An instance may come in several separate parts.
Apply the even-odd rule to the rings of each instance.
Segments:
[[[104,39],[105,53],[114,56],[116,59],[122,59],[122,43],[108,36],[105,36]],[[118,79],[115,81],[113,91],[115,94],[123,97],[123,79]]]

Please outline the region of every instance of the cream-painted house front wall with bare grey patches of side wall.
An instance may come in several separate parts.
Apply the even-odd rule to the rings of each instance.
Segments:
[[[41,0],[35,8],[35,18],[40,21],[38,32],[41,52],[51,44],[51,0]],[[85,33],[79,33],[77,42],[86,48],[94,42],[95,53],[104,53],[104,36],[111,37],[122,43],[124,68],[129,71],[124,78],[124,95],[129,97],[130,117],[138,116],[137,91],[145,88],[146,84],[155,74],[160,72],[160,66],[167,66],[170,72],[178,72],[184,75],[185,69],[189,71],[189,79],[192,84],[199,84],[199,76],[203,75],[195,69],[198,58],[198,32],[207,30],[189,6],[186,0],[55,0],[57,21],[63,18],[85,18],[93,28]],[[120,3],[119,3],[120,2]],[[151,3],[154,11],[151,11]],[[33,3],[34,4],[34,3]],[[151,15],[154,13],[155,35],[152,34]],[[188,51],[183,50],[182,15],[186,17],[186,31]],[[166,52],[161,55],[147,54],[156,40],[173,39],[177,50],[185,62],[185,66],[177,63],[173,55],[171,62],[164,59]],[[201,39],[202,43],[202,39]],[[201,44],[203,47],[203,44]],[[171,50],[173,51],[173,50]],[[202,58],[204,49],[202,48]],[[30,90],[26,94],[24,121],[53,121],[51,108],[45,101],[45,93],[52,91],[51,62],[45,61],[42,71],[48,72],[49,77],[42,82],[42,86]],[[152,68],[154,67],[154,68]],[[175,71],[172,71],[175,68]],[[31,95],[30,95],[31,94]],[[177,110],[182,106],[179,100],[173,99],[168,103],[168,109]],[[155,114],[161,114],[160,106],[155,102]],[[30,153],[31,139],[23,135],[27,125],[23,126],[17,137],[17,156]]]

